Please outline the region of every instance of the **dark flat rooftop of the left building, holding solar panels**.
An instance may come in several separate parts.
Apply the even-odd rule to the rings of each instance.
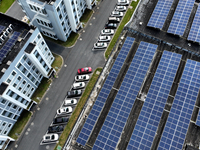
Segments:
[[[0,77],[9,67],[35,27],[0,13]]]

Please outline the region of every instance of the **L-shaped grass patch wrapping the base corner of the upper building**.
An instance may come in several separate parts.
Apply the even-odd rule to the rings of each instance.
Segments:
[[[76,43],[76,40],[78,39],[79,34],[75,33],[75,32],[71,32],[71,34],[70,34],[70,36],[69,36],[69,38],[67,39],[66,42],[63,42],[63,41],[60,41],[60,40],[54,40],[50,37],[45,36],[44,34],[43,34],[43,37],[45,39],[48,39],[48,40],[50,40],[54,43],[57,43],[59,45],[62,45],[62,46],[65,46],[65,47],[70,47],[70,46],[73,46]]]

